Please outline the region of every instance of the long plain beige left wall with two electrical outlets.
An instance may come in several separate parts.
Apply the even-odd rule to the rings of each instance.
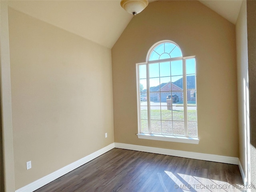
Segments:
[[[109,48],[8,11],[17,190],[114,142],[112,66]]]

